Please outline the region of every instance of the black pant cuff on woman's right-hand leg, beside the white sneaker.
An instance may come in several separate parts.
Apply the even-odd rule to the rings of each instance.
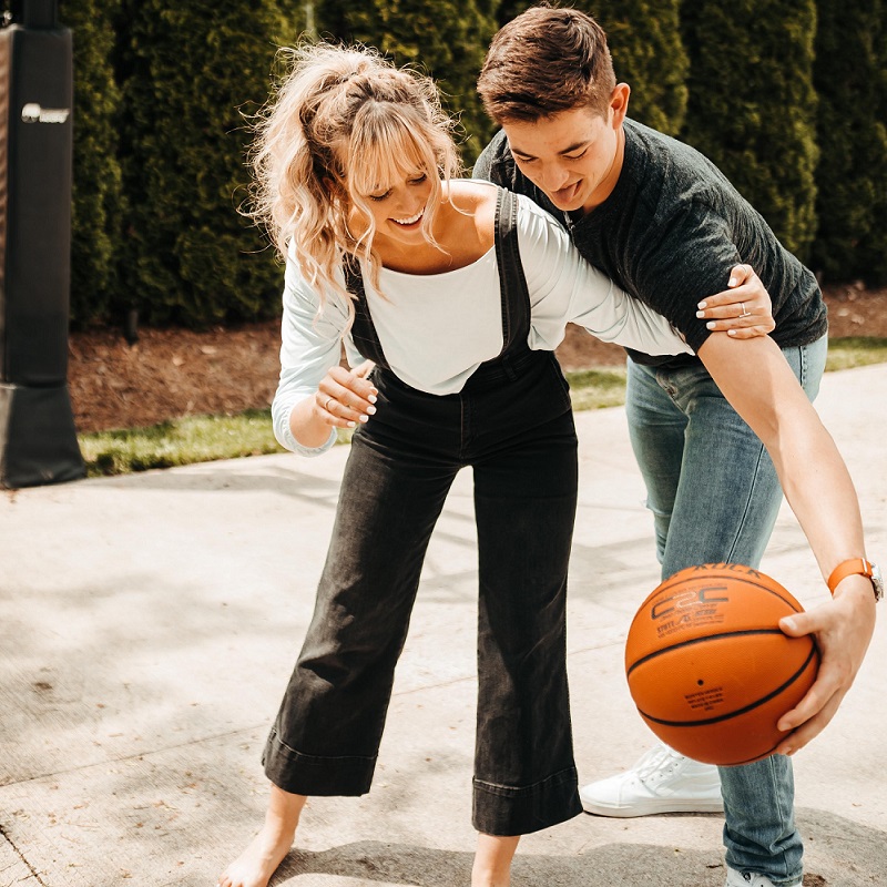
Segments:
[[[485,835],[529,835],[582,813],[575,767],[520,788],[477,778],[473,784],[473,825]]]

